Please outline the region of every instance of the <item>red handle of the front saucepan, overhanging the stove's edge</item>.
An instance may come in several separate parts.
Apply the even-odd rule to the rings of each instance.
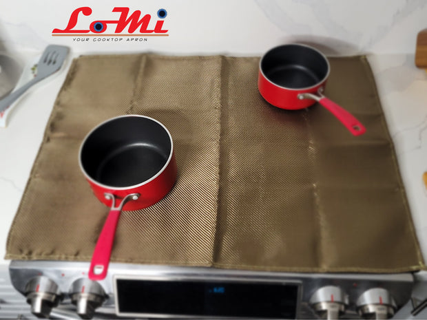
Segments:
[[[89,279],[91,280],[102,280],[107,276],[114,235],[116,234],[116,227],[120,214],[121,210],[117,209],[112,209],[110,213],[108,213],[103,230],[98,237],[98,242],[96,242],[92,261],[90,262]]]

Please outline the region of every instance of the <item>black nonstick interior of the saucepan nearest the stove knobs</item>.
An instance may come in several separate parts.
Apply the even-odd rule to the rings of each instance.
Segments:
[[[128,187],[153,178],[167,163],[171,139],[158,122],[127,116],[92,131],[81,149],[83,170],[98,183]]]

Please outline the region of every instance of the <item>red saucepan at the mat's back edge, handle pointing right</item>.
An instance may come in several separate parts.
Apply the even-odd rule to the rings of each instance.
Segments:
[[[308,45],[280,45],[269,50],[260,60],[258,89],[275,107],[303,109],[316,101],[338,119],[354,136],[366,131],[348,111],[322,95],[329,76],[329,61]]]

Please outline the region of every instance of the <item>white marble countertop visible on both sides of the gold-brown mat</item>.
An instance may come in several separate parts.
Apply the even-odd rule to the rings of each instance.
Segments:
[[[8,231],[71,58],[54,78],[25,94],[10,114],[8,127],[0,128],[0,264],[8,264],[3,259]],[[415,67],[410,54],[373,54],[368,55],[368,61],[395,142],[421,250],[427,258],[427,189],[422,180],[427,171],[427,73]]]

